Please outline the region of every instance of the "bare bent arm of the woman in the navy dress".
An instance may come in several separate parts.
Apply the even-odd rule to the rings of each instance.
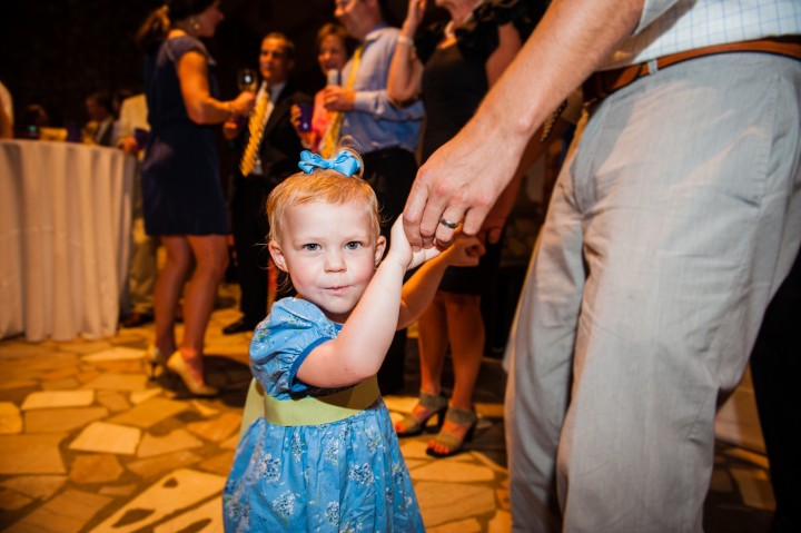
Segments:
[[[177,71],[187,115],[196,124],[220,124],[235,116],[248,115],[254,108],[255,96],[249,91],[227,101],[211,97],[208,65],[200,52],[188,51],[181,56]]]

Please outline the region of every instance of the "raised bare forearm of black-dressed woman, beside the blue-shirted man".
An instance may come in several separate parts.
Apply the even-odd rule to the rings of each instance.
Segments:
[[[417,99],[423,83],[423,63],[414,50],[414,36],[423,20],[425,4],[425,0],[409,0],[406,20],[400,28],[395,55],[389,65],[387,96],[398,105]]]

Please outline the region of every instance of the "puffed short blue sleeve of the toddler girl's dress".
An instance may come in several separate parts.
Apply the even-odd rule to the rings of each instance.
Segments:
[[[335,338],[340,326],[306,300],[284,298],[273,305],[250,342],[250,367],[265,392],[279,399],[310,392],[297,369],[318,345]]]

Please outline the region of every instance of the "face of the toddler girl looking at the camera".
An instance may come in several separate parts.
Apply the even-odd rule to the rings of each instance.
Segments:
[[[315,304],[332,320],[344,323],[356,307],[384,254],[369,210],[356,203],[312,203],[287,210],[269,250],[289,274],[298,298]]]

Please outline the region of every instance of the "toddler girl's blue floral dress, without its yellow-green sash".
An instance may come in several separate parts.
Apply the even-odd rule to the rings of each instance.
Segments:
[[[250,366],[277,399],[329,395],[296,377],[342,326],[285,298],[256,328]],[[244,433],[222,494],[225,531],[422,532],[423,519],[384,401],[339,422],[279,426],[258,417]]]

